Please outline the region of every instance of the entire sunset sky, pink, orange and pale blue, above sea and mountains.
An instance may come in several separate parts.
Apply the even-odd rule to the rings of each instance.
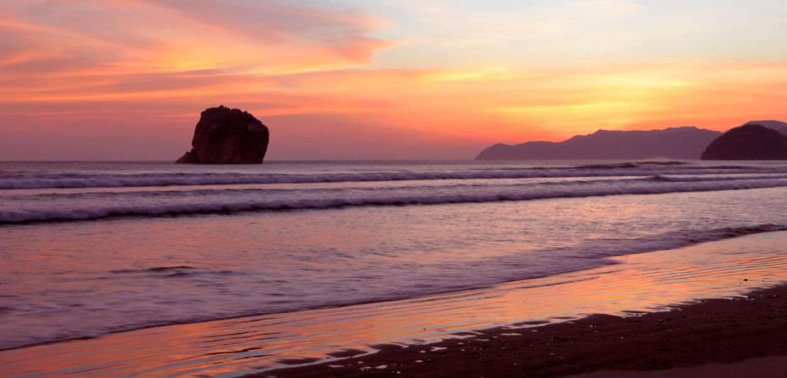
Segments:
[[[220,104],[266,160],[787,120],[782,0],[6,0],[0,32],[0,160],[174,161]]]

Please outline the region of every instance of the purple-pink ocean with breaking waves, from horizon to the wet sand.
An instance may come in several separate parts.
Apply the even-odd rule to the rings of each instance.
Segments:
[[[0,349],[580,272],[785,195],[784,161],[0,162]]]

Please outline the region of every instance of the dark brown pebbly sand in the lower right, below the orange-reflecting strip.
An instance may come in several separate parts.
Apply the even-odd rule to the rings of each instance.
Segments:
[[[730,363],[787,354],[785,315],[787,285],[781,285],[667,312],[592,315],[535,328],[468,332],[464,339],[428,345],[378,346],[375,354],[249,377],[570,376]],[[751,363],[729,365],[746,366]]]

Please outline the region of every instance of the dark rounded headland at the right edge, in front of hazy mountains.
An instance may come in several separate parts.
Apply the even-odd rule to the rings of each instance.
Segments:
[[[787,160],[787,136],[759,124],[745,124],[714,139],[702,160]]]

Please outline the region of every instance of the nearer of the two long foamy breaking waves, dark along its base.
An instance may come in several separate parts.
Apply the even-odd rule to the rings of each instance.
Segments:
[[[412,194],[409,188],[378,188],[342,191],[285,191],[270,195],[267,191],[229,192],[211,198],[192,196],[188,192],[173,191],[168,196],[151,196],[150,192],[130,192],[127,198],[99,198],[67,201],[60,207],[55,202],[22,202],[19,206],[7,203],[0,210],[0,224],[31,221],[77,221],[115,216],[161,216],[198,213],[226,213],[289,209],[333,209],[345,206],[402,206],[437,205],[471,202],[525,201],[545,198],[581,198],[605,195],[655,195],[695,191],[726,191],[767,187],[787,187],[787,178],[768,180],[726,181],[642,181],[618,180],[588,185],[571,182],[564,185],[517,186],[489,185],[488,187],[421,187]],[[218,191],[217,193],[221,193]],[[234,194],[233,194],[234,193]],[[57,195],[54,195],[57,197]],[[42,207],[44,206],[44,207]]]

